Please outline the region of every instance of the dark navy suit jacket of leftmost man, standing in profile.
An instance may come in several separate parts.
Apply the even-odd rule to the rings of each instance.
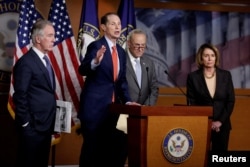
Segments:
[[[56,98],[49,73],[38,55],[30,49],[13,69],[15,120],[21,127],[29,122],[37,131],[54,128]]]

